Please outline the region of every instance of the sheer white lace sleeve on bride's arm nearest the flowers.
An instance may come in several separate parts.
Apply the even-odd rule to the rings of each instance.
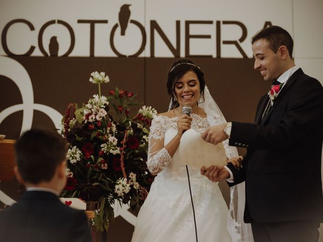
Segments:
[[[155,116],[151,122],[147,159],[147,167],[151,173],[163,170],[172,159],[167,149],[164,147],[166,122],[167,120],[164,116]]]

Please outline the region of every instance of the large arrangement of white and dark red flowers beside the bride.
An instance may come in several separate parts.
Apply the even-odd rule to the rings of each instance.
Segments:
[[[62,119],[66,137],[67,184],[62,197],[77,197],[95,202],[92,225],[107,230],[114,218],[115,202],[142,205],[153,181],[146,166],[148,135],[156,110],[143,106],[131,115],[136,96],[116,88],[101,96],[100,85],[109,82],[105,73],[93,72],[90,82],[98,84],[99,94],[82,107],[68,106]]]

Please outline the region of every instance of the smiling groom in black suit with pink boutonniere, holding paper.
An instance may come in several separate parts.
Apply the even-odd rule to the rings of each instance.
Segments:
[[[323,88],[295,66],[293,40],[281,27],[258,32],[252,51],[254,69],[273,82],[254,124],[232,122],[202,134],[213,144],[229,138],[231,146],[246,147],[243,165],[202,167],[201,173],[212,181],[227,179],[229,186],[246,182],[244,220],[255,242],[317,241],[323,221]]]

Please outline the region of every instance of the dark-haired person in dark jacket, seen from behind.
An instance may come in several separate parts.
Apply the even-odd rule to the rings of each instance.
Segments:
[[[64,205],[66,141],[54,131],[34,129],[15,145],[17,179],[26,192],[0,211],[0,241],[92,241],[84,211]]]

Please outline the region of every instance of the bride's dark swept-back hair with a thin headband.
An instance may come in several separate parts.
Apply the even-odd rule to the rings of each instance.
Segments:
[[[204,97],[204,73],[201,69],[195,65],[190,59],[179,59],[178,61],[174,62],[170,71],[167,75],[167,92],[172,97],[172,109],[178,107],[180,104],[176,98],[175,93],[175,84],[177,81],[188,71],[193,71],[200,83],[200,94]],[[204,98],[203,98],[204,99]]]

